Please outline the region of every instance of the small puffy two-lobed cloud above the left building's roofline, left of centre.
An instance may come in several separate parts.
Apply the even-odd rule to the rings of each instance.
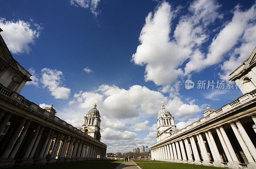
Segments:
[[[55,99],[68,99],[70,88],[61,86],[63,79],[62,72],[49,68],[43,68],[41,72],[41,83],[43,83],[45,88],[47,87],[50,90],[51,95],[54,96]]]

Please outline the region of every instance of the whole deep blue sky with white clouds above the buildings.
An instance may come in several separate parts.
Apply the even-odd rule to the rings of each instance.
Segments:
[[[107,152],[155,143],[161,101],[181,129],[203,117],[206,104],[219,109],[242,95],[216,83],[256,44],[250,0],[0,3],[1,35],[33,74],[20,94],[41,107],[53,103],[76,127],[98,101]],[[185,88],[187,79],[194,88]]]

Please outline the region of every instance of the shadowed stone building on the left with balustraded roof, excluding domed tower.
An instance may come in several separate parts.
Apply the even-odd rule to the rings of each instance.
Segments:
[[[0,35],[0,168],[105,158],[99,138],[55,116],[53,105],[42,109],[19,94],[30,77]]]

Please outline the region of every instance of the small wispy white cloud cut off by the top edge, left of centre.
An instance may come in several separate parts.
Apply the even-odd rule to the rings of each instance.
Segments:
[[[70,4],[76,7],[90,8],[91,12],[97,17],[99,11],[97,11],[97,6],[100,0],[71,0]]]

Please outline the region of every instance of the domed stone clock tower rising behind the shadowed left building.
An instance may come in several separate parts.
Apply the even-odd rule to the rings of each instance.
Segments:
[[[84,123],[81,131],[100,141],[100,112],[96,109],[96,102],[93,108],[84,116]]]

